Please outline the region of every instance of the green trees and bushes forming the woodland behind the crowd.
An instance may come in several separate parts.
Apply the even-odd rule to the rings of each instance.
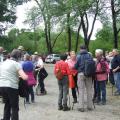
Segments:
[[[6,50],[19,45],[40,54],[78,52],[81,44],[92,53],[97,48],[120,48],[120,0],[34,0],[36,5],[26,11],[24,21],[29,29],[12,28],[6,35],[15,24],[16,7],[28,1],[0,0],[0,46]],[[97,20],[103,27],[92,40]]]

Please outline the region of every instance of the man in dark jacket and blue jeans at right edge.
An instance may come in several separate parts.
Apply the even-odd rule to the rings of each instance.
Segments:
[[[120,55],[117,49],[113,49],[112,70],[114,74],[115,86],[117,88],[115,95],[120,95]]]

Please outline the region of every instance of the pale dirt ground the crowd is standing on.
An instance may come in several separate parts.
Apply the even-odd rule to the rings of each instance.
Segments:
[[[20,98],[20,120],[120,120],[120,97],[112,95],[112,88],[107,87],[107,105],[95,105],[93,111],[81,113],[77,111],[77,104],[71,111],[57,110],[58,85],[53,75],[53,65],[46,65],[49,76],[45,80],[47,95],[35,96],[35,103],[24,106]],[[71,92],[71,91],[70,91]],[[70,97],[72,103],[72,97]],[[3,105],[0,103],[0,118],[3,115]]]

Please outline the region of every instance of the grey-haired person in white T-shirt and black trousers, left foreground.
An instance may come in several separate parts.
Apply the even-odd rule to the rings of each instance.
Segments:
[[[19,76],[27,80],[28,76],[17,62],[21,57],[20,51],[14,49],[11,58],[5,60],[0,66],[0,92],[4,99],[3,120],[19,120]]]

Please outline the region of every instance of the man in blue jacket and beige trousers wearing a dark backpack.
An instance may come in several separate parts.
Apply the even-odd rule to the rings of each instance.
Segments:
[[[90,61],[90,62],[88,62]],[[90,70],[89,68],[86,69],[86,65],[88,65],[86,62],[91,63],[89,64],[93,68],[95,66],[95,63],[93,61],[92,56],[87,52],[85,45],[80,46],[80,54],[78,55],[77,63],[75,64],[75,69],[78,70],[78,91],[79,91],[79,108],[78,111],[84,112],[84,95],[85,95],[85,88],[87,91],[87,109],[93,110],[93,81],[92,76],[94,74],[95,68]],[[94,65],[93,65],[94,64]],[[89,70],[89,71],[87,71]],[[93,73],[90,75],[89,72],[93,71]]]

